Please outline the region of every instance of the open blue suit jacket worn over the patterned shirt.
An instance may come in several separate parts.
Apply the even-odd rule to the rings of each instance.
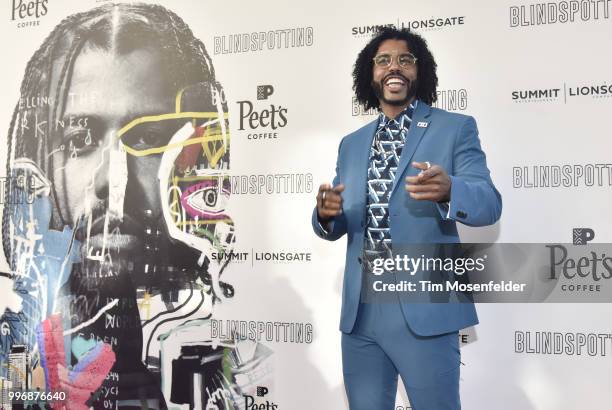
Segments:
[[[348,236],[340,319],[340,330],[345,333],[353,329],[360,301],[367,169],[378,121],[347,135],[340,143],[333,185],[345,185],[343,213],[333,218],[329,232],[321,229],[316,208],[312,214],[312,226],[319,237],[333,241]],[[440,165],[450,175],[449,218],[447,207],[414,200],[406,192],[405,177],[419,172],[410,165],[412,161]],[[499,219],[501,209],[501,195],[491,181],[474,118],[418,101],[389,200],[393,243],[458,243],[456,222],[491,225]],[[403,303],[401,307],[412,331],[421,336],[478,323],[472,303]]]

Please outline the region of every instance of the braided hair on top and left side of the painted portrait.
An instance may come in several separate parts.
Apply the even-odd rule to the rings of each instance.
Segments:
[[[50,141],[58,135],[56,122],[63,117],[75,60],[86,47],[112,48],[119,55],[139,48],[155,50],[161,57],[164,75],[177,92],[204,83],[208,101],[227,112],[223,89],[215,79],[204,44],[175,13],[159,5],[111,3],[73,14],[55,27],[26,66],[20,101],[42,97],[48,99],[48,104],[30,108],[19,102],[15,106],[8,131],[7,176],[11,178],[5,184],[5,198],[16,190],[13,182],[16,158],[29,158],[44,175],[53,175]],[[61,228],[65,221],[59,212],[55,188],[51,196],[54,204],[51,224]],[[2,215],[2,242],[11,268],[14,259],[9,228],[14,212],[14,206],[7,201]]]

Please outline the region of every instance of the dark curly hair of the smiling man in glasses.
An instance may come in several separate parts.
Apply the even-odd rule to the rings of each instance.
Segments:
[[[430,105],[436,102],[438,99],[436,94],[436,88],[438,87],[437,65],[427,48],[427,42],[423,37],[410,32],[408,29],[398,30],[389,26],[380,27],[375,36],[357,56],[353,66],[353,90],[357,101],[366,110],[380,108],[380,103],[372,87],[372,70],[374,68],[372,59],[385,40],[404,40],[406,42],[410,52],[417,58],[416,98]]]

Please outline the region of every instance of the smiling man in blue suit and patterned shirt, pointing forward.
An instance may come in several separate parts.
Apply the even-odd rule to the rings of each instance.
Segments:
[[[495,223],[501,196],[474,119],[431,107],[436,63],[420,36],[381,29],[353,79],[358,101],[381,113],[342,139],[312,216],[321,238],[348,236],[340,330],[350,409],[393,409],[399,374],[414,410],[457,410],[458,331],[478,323],[474,305],[365,303],[364,293],[375,259],[398,246],[458,243],[456,223]]]

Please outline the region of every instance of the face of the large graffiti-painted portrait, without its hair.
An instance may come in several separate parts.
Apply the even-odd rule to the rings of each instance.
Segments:
[[[121,59],[87,51],[74,64],[70,92],[104,98],[68,100],[66,121],[87,126],[66,129],[53,169],[59,213],[76,227],[92,277],[127,272],[149,284],[160,270],[201,268],[235,239],[224,213],[227,114],[213,106],[208,83],[173,90],[159,59],[149,50]],[[213,267],[202,270],[214,271],[219,291]]]

